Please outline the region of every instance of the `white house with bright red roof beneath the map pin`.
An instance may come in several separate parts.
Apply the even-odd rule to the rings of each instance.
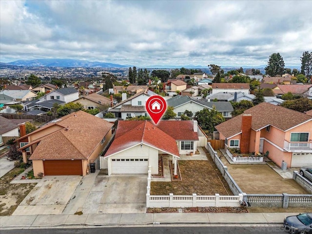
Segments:
[[[197,121],[119,121],[115,139],[100,159],[108,174],[158,174],[158,156],[176,158],[196,151]]]

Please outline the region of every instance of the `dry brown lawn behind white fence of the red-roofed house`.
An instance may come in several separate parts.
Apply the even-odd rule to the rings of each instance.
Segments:
[[[182,181],[151,182],[151,195],[233,195],[211,157],[179,160]]]

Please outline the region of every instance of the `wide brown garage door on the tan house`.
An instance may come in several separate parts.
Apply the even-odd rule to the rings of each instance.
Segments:
[[[81,160],[44,160],[45,176],[82,176]]]

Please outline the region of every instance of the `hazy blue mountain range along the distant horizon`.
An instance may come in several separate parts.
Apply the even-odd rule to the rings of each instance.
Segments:
[[[133,65],[125,64],[116,64],[116,63],[108,63],[108,62],[98,62],[98,61],[87,61],[80,59],[33,59],[33,60],[17,60],[14,62],[3,63],[0,62],[0,66],[27,66],[27,67],[98,67],[98,68],[128,68],[133,67]],[[179,69],[181,67],[184,68],[195,68],[195,69],[207,69],[208,66],[201,65],[151,65],[146,66],[144,68],[157,68],[157,69]],[[266,65],[259,66],[242,66],[244,69],[250,68],[265,68]],[[143,67],[142,67],[143,68]],[[221,66],[222,69],[238,69],[240,66]],[[300,69],[300,66],[292,65],[285,66],[285,68],[296,68]]]

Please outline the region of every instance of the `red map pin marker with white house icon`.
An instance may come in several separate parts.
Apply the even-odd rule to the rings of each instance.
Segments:
[[[145,104],[146,111],[150,114],[150,117],[155,124],[165,114],[167,109],[167,103],[161,96],[152,96],[147,99]]]

